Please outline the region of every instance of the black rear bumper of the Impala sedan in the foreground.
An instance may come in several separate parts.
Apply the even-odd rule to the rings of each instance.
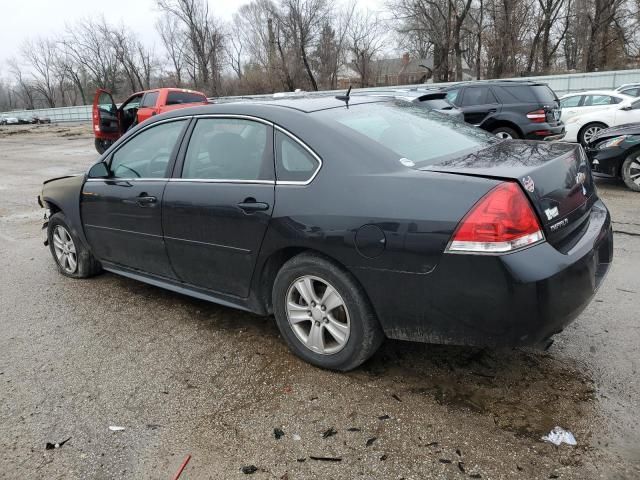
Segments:
[[[445,254],[430,274],[365,286],[391,338],[542,347],[587,307],[609,270],[613,233],[601,201],[588,222],[566,254],[547,242],[509,255]]]

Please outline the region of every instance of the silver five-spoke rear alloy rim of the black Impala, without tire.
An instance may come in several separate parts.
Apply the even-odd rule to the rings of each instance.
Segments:
[[[314,353],[342,350],[351,332],[349,311],[338,291],[326,280],[305,275],[287,291],[287,319],[298,340]]]

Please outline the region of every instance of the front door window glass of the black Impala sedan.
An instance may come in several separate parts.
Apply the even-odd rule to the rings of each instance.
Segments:
[[[165,178],[171,154],[186,120],[147,128],[120,147],[111,157],[115,178]]]

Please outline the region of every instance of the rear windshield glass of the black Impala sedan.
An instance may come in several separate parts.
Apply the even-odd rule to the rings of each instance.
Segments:
[[[397,154],[403,164],[418,168],[500,142],[484,130],[409,102],[352,105],[312,115],[364,135]]]

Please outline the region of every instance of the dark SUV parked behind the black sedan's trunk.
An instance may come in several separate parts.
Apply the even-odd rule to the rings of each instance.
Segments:
[[[500,138],[562,138],[560,104],[545,83],[495,80],[443,89],[468,123]]]

